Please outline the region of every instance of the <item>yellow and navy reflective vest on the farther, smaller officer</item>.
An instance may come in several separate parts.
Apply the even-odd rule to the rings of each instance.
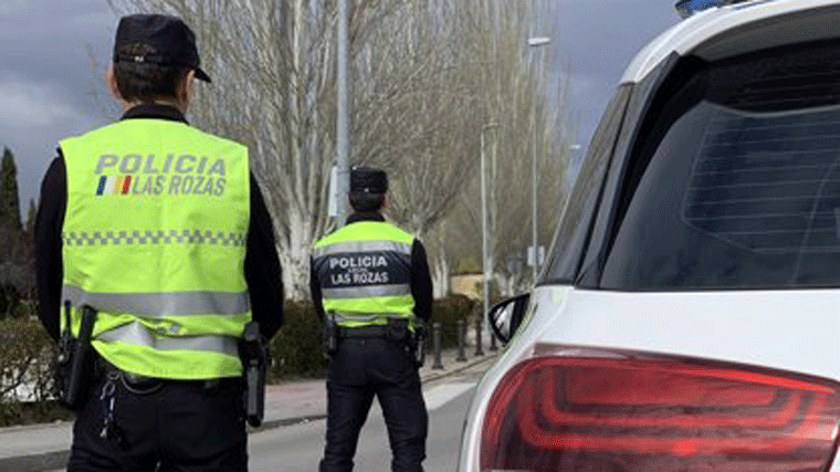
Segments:
[[[343,326],[384,324],[410,318],[413,237],[377,221],[350,223],[313,249],[324,310]]]

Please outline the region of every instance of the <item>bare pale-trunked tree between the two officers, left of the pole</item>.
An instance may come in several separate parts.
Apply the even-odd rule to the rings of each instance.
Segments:
[[[274,216],[287,293],[307,293],[312,242],[326,214],[335,143],[335,3],[316,0],[115,0],[168,12],[197,32],[212,88],[192,108],[202,127],[245,143]],[[350,9],[353,53],[396,0]],[[201,93],[204,92],[204,93]]]

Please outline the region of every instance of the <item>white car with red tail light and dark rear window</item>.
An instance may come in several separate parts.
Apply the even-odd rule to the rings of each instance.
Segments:
[[[644,48],[537,282],[491,311],[461,472],[840,471],[840,0]]]

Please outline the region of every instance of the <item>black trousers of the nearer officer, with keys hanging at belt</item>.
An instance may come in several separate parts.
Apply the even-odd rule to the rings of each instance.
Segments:
[[[147,394],[114,381],[114,423],[123,440],[101,437],[108,412],[103,376],[76,415],[69,472],[246,471],[241,379],[166,381]]]

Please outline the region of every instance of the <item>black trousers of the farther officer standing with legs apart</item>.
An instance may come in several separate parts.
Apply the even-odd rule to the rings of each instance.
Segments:
[[[321,472],[349,472],[374,396],[388,428],[392,472],[422,472],[429,416],[405,343],[340,339],[327,374],[327,433]]]

